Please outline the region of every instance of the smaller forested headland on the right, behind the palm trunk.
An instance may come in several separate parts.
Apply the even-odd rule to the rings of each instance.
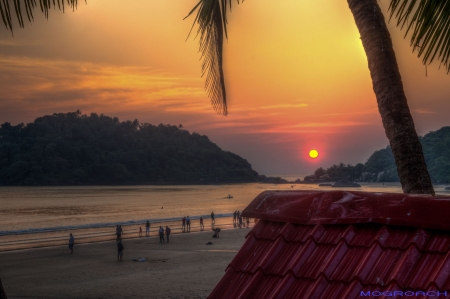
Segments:
[[[419,137],[431,180],[435,184],[450,183],[450,127]],[[327,169],[318,168],[305,181],[336,181],[350,177],[363,182],[398,182],[397,167],[389,146],[375,151],[365,164],[335,164]]]

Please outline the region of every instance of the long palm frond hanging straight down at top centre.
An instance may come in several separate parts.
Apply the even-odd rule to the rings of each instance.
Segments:
[[[237,2],[239,4],[239,0]],[[206,74],[205,89],[216,112],[223,115],[228,114],[222,66],[223,37],[228,36],[226,26],[228,8],[231,10],[231,0],[200,0],[186,16],[187,18],[198,10],[191,32],[197,23],[197,36],[200,37],[199,51],[203,59],[202,77]]]

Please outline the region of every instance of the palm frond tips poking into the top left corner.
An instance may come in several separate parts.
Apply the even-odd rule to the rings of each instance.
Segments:
[[[33,10],[38,7],[36,0],[0,0],[0,14],[6,29],[13,31],[12,15],[15,15],[20,27],[24,27],[23,7],[27,14],[29,22],[33,21]],[[39,7],[41,12],[48,18],[48,11],[51,8],[58,6],[59,10],[64,12],[64,5],[67,5],[73,10],[77,7],[78,0],[39,0]],[[87,3],[87,0],[85,0]],[[14,12],[11,14],[11,8],[14,7]]]

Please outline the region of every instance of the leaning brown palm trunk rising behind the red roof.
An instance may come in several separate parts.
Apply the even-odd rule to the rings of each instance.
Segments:
[[[376,0],[347,1],[367,55],[378,110],[394,154],[403,192],[434,195],[380,7]]]

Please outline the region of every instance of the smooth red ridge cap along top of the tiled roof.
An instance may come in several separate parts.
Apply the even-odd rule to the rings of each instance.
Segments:
[[[360,191],[264,191],[242,216],[296,224],[379,223],[450,230],[450,197]]]

